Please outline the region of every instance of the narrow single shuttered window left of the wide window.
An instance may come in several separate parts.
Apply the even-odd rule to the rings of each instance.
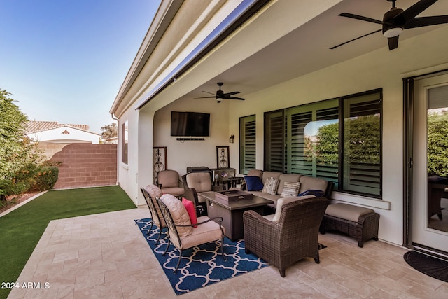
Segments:
[[[255,116],[239,118],[239,173],[255,169]]]

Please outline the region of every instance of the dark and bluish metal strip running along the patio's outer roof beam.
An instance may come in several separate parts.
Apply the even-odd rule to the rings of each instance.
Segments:
[[[165,76],[158,85],[144,95],[143,99],[135,106],[135,109],[141,109],[146,103],[162,92],[162,90],[165,90],[171,83],[176,81],[176,78],[179,78],[179,76],[190,69],[193,64],[201,60],[202,57],[207,55],[207,53],[232,34],[235,29],[251,18],[252,15],[258,12],[269,1],[271,0],[241,1],[241,4],[239,4],[239,6],[237,6],[237,8],[235,8],[223,22],[216,26],[216,28],[198,46],[196,46],[189,55],[187,55],[167,76]]]

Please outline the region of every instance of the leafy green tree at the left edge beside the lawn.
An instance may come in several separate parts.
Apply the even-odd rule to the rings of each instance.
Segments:
[[[25,137],[27,116],[9,96],[9,92],[0,89],[1,200],[4,200],[6,195],[15,194],[15,190],[22,189],[15,178],[29,173],[29,166],[37,165],[42,159],[40,152],[36,151],[36,144],[31,144]]]

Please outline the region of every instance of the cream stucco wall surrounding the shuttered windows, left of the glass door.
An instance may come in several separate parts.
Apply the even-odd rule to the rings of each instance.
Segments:
[[[442,27],[400,43],[400,52],[381,48],[353,60],[295,78],[246,96],[244,103],[232,102],[229,131],[239,132],[240,116],[256,115],[257,167],[263,167],[263,113],[276,109],[318,102],[356,92],[383,88],[383,199],[333,193],[333,200],[373,207],[380,215],[379,237],[402,244],[403,226],[403,93],[402,78],[448,68],[448,43]],[[428,53],[426,55],[426,53]],[[416,59],[419,57],[419,59]],[[276,99],[276,100],[273,100]],[[231,165],[238,164],[239,146],[230,146]]]

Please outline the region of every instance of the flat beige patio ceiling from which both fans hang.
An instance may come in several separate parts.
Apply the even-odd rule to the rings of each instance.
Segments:
[[[415,3],[416,0],[397,0],[395,5],[405,10]],[[330,50],[330,48],[381,29],[381,25],[340,17],[339,13],[353,13],[382,20],[384,13],[391,7],[391,2],[386,0],[344,0],[235,67],[212,78],[186,96],[207,96],[202,90],[215,92],[218,90],[216,82],[222,81],[225,83],[223,85],[225,92],[239,90],[241,93],[236,96],[244,97],[251,92],[309,74],[312,71],[379,48],[388,51],[387,39],[381,32],[365,36],[334,50]],[[437,1],[419,16],[429,15],[448,15],[448,1]],[[400,34],[400,41],[437,29],[440,26],[448,25],[406,29]],[[393,51],[400,51],[400,42],[398,49]]]

